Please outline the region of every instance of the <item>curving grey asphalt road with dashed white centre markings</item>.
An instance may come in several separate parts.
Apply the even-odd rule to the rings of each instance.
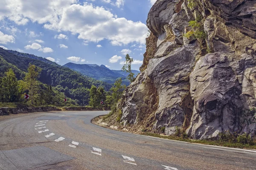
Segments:
[[[0,120],[0,170],[256,170],[256,151],[191,144],[93,125],[106,111]]]

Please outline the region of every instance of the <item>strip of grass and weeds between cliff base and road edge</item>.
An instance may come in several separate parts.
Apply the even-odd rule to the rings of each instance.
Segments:
[[[215,145],[215,146],[224,146],[224,147],[235,147],[235,148],[244,148],[244,149],[256,149],[256,140],[251,139],[249,135],[242,134],[236,137],[236,140],[232,140],[232,138],[229,138],[231,140],[224,140],[224,139],[207,139],[207,140],[195,140],[195,139],[189,139],[188,137],[183,135],[183,133],[180,133],[180,136],[163,136],[158,133],[150,133],[150,132],[144,132],[141,133],[145,136],[153,136],[157,138],[163,138],[163,139],[171,139],[171,140],[177,140],[177,141],[183,141],[183,142],[191,142],[191,143],[198,143],[198,144],[209,144],[209,145]],[[224,136],[223,136],[224,137]]]

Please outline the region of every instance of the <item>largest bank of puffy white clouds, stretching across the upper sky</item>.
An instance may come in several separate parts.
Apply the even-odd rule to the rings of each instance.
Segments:
[[[105,1],[119,7],[124,2]],[[5,0],[0,7],[0,20],[7,18],[17,24],[37,22],[44,24],[44,28],[69,31],[73,35],[77,34],[79,39],[91,42],[109,40],[112,45],[127,45],[131,42],[145,44],[148,28],[144,23],[118,18],[104,7],[77,2],[78,0]]]

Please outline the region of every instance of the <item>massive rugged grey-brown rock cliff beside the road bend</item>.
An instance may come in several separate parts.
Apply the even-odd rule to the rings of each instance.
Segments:
[[[256,1],[157,0],[142,73],[106,122],[194,139],[256,136]],[[120,125],[120,124],[119,124]]]

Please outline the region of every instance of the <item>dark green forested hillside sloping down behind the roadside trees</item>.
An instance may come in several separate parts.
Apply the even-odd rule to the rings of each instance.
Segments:
[[[81,75],[70,68],[29,58],[29,54],[24,55],[26,57],[20,57],[0,48],[0,77],[3,77],[3,73],[12,68],[17,79],[23,79],[29,65],[36,65],[42,69],[38,78],[41,83],[51,85],[57,91],[64,93],[65,96],[74,99],[78,105],[87,105],[89,103],[91,85],[102,86],[106,91],[112,86],[107,82]]]

